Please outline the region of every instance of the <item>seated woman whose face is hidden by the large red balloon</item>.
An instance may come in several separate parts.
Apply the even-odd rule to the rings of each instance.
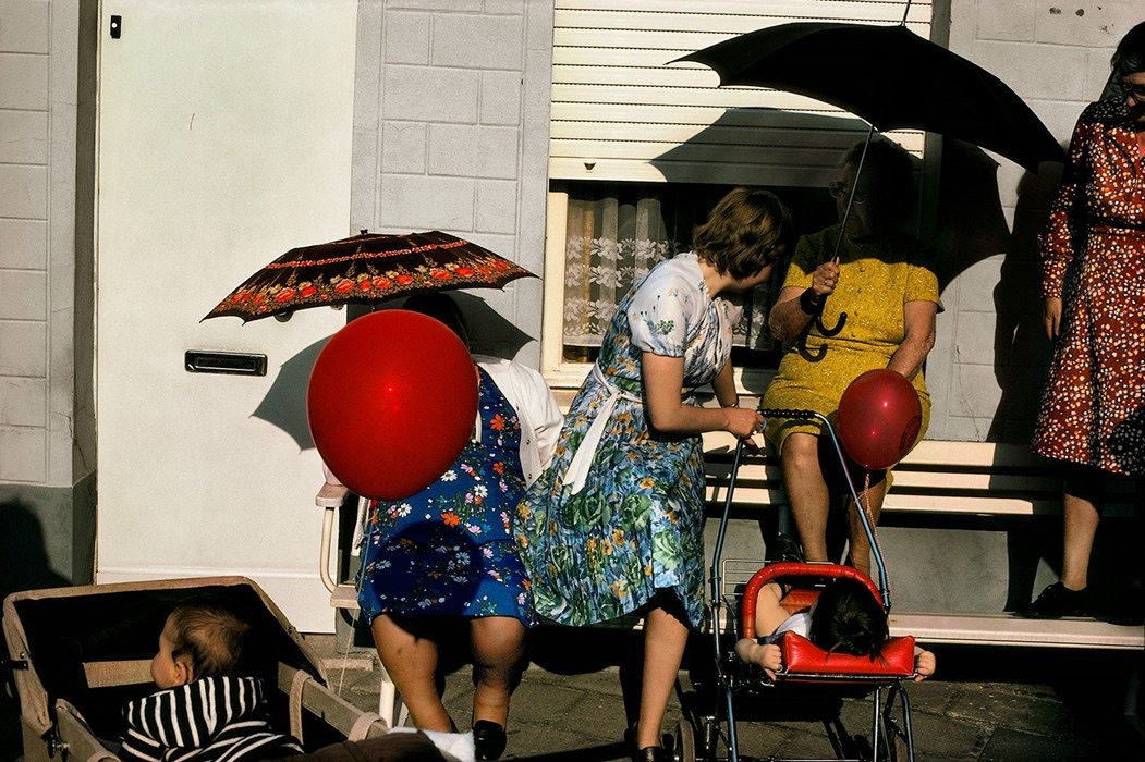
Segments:
[[[448,296],[411,297],[405,308],[466,339],[460,311]],[[536,371],[491,357],[474,360],[473,438],[425,490],[371,507],[358,603],[382,664],[424,730],[453,727],[437,694],[437,640],[443,630],[468,629],[475,752],[479,760],[493,760],[505,749],[510,692],[527,628],[536,625],[510,514],[547,462],[561,415]]]

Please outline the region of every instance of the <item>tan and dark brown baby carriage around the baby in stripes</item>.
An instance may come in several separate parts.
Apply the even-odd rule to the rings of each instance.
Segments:
[[[253,612],[266,636],[274,730],[307,752],[372,738],[389,727],[329,688],[322,664],[254,582],[211,577],[14,593],[3,602],[2,666],[19,704],[25,762],[118,760],[123,707],[156,690],[151,657],[167,613],[211,593]]]

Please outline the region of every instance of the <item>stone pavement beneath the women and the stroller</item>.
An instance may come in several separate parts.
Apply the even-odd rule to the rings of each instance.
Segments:
[[[344,638],[341,646],[337,642]],[[332,688],[360,708],[377,711],[380,673],[364,644],[342,636],[308,636],[322,654]],[[625,760],[627,697],[639,682],[639,633],[602,628],[540,628],[530,641],[530,664],[513,696],[504,759],[544,762]],[[933,649],[938,672],[910,683],[916,760],[1022,762],[1145,759],[1139,651],[1077,649]],[[459,645],[457,652],[464,652]],[[689,644],[664,722],[674,736],[686,717],[710,715],[717,704],[709,665],[711,641]],[[445,707],[464,730],[473,686],[463,661],[443,664]],[[1135,678],[1136,675],[1136,678]],[[1135,688],[1130,684],[1134,683]],[[788,691],[783,693],[781,691]],[[793,691],[793,692],[792,692]],[[1134,697],[1127,713],[1127,701]],[[838,697],[793,686],[736,701],[741,757],[836,759],[824,716],[836,712],[844,733],[870,739],[869,697]],[[840,736],[835,732],[836,737]],[[727,756],[726,748],[719,754]]]

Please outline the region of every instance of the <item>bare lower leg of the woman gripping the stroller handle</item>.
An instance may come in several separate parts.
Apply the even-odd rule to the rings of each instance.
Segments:
[[[661,746],[661,725],[668,711],[680,661],[688,644],[688,628],[663,606],[645,614],[645,664],[640,684],[640,716],[637,721],[637,748]]]

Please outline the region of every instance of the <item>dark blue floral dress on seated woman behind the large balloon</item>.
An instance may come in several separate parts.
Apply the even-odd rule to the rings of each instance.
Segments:
[[[529,579],[510,533],[524,492],[516,412],[479,368],[480,438],[436,482],[376,503],[363,539],[358,604],[380,613],[515,617],[536,625]],[[428,436],[428,435],[427,435]]]

